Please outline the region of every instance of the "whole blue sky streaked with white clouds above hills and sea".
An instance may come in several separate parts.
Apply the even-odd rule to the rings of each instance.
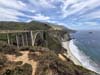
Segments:
[[[0,0],[0,21],[32,20],[100,29],[100,0]]]

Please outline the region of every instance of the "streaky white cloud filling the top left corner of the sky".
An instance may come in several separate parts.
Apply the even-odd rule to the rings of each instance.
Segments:
[[[27,3],[21,0],[0,0],[0,7],[6,7],[14,10],[33,12],[34,9],[30,9]],[[35,12],[35,10],[34,10]]]

